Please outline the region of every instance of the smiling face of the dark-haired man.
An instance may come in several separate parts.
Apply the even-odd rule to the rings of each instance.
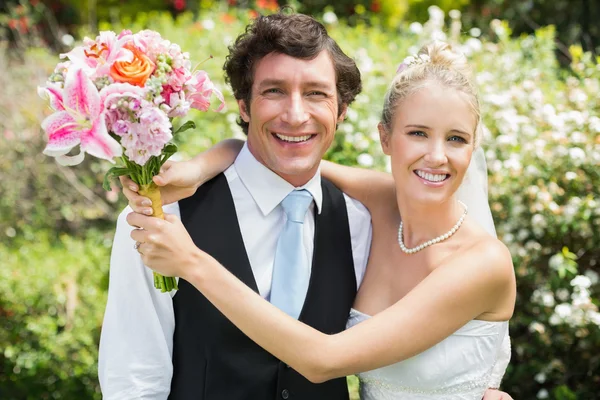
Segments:
[[[255,66],[248,147],[256,159],[294,186],[308,182],[331,145],[338,116],[335,69],[329,53],[312,60],[270,53]],[[345,107],[344,107],[345,111]]]

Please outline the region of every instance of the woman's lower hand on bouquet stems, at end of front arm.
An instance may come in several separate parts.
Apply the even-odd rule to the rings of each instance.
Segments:
[[[201,250],[196,247],[181,220],[172,214],[165,219],[138,213],[127,215],[127,223],[135,228],[131,238],[144,264],[164,276],[185,277],[198,266]]]

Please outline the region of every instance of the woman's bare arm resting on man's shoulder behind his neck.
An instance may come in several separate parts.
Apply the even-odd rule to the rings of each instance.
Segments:
[[[371,214],[396,206],[396,187],[391,174],[330,161],[321,162],[321,174],[348,196],[367,207]]]

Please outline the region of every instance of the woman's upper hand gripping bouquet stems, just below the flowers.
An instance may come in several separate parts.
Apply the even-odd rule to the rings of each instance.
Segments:
[[[121,176],[119,180],[123,187],[123,194],[129,200],[129,206],[133,211],[152,215],[152,203],[149,198],[138,194],[138,185],[127,176]],[[167,161],[162,166],[160,173],[152,180],[160,188],[163,205],[190,197],[203,181],[201,167],[193,160]]]

